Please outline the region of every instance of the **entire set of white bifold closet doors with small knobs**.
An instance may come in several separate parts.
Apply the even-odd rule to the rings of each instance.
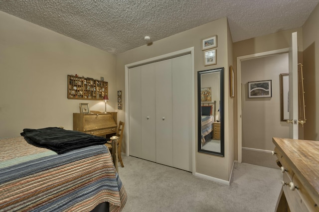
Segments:
[[[130,155],[192,169],[191,57],[129,70]]]

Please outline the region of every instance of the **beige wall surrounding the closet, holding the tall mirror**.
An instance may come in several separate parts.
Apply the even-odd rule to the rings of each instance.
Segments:
[[[217,35],[217,65],[204,66],[204,51],[201,50],[201,39]],[[175,52],[181,49],[194,47],[194,68],[195,68],[195,103],[197,103],[197,72],[201,70],[213,69],[213,68],[225,68],[225,82],[228,82],[228,28],[227,18],[221,18],[216,21],[203,24],[201,26],[192,28],[190,30],[172,35],[162,40],[156,41],[151,46],[141,46],[139,48],[124,52],[116,57],[116,71],[117,71],[117,83],[118,90],[125,90],[125,65],[134,62],[142,61],[145,59],[153,58],[156,56],[164,55],[167,53]],[[230,53],[232,54],[232,53]],[[227,102],[225,103],[225,126],[228,126],[228,87],[225,86],[225,97]],[[126,94],[124,94],[125,96]],[[227,96],[226,96],[227,95]],[[123,113],[120,119],[125,119],[125,103],[123,104]],[[195,104],[195,110],[197,111],[197,105]],[[227,116],[227,117],[226,117]],[[196,144],[197,144],[197,113],[196,113]],[[226,127],[225,130],[225,148],[229,146],[228,140],[229,130]],[[197,145],[196,145],[197,146]],[[124,147],[126,148],[126,147]],[[225,149],[226,150],[226,149]],[[203,153],[197,153],[196,150],[196,172],[207,176],[212,176],[219,179],[228,180],[228,160],[232,157],[229,151],[225,151],[225,157],[216,157]]]

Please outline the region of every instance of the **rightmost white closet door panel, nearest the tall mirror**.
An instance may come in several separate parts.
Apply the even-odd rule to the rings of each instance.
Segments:
[[[172,59],[173,167],[192,170],[191,153],[191,58]]]

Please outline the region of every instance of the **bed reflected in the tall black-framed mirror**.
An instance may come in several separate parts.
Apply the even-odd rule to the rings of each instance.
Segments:
[[[216,115],[216,101],[201,105],[201,144],[206,142],[207,137],[211,139],[213,123]]]

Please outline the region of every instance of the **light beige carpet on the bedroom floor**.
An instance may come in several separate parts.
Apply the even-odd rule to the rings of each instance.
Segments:
[[[235,163],[231,185],[190,172],[122,156],[119,175],[128,194],[123,212],[274,212],[279,169]]]

